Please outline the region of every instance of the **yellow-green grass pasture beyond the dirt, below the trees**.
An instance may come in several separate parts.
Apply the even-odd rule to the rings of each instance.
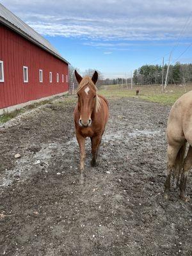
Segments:
[[[140,90],[139,96],[136,96],[136,89]],[[169,85],[166,92],[161,92],[161,86],[134,86],[131,90],[130,86],[128,89],[122,88],[118,85],[102,86],[99,90],[101,95],[108,98],[119,98],[119,97],[138,97],[143,100],[152,102],[159,102],[160,104],[172,105],[185,92],[192,90],[192,84],[186,86],[175,86]]]

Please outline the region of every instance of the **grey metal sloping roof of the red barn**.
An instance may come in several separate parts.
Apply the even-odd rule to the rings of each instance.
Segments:
[[[15,14],[10,12],[7,8],[0,3],[0,23],[3,23],[8,28],[13,29],[15,32],[24,36],[34,44],[43,48],[45,51],[50,52],[60,60],[69,64],[56,49],[47,41],[43,36],[38,34],[33,28],[29,27],[25,22],[19,19]]]

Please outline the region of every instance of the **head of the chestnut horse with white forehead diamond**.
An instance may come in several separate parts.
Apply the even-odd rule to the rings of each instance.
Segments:
[[[92,124],[92,113],[99,108],[99,97],[97,96],[98,73],[95,71],[92,78],[86,76],[81,77],[75,70],[75,75],[79,87],[77,89],[78,95],[78,109],[80,113],[79,125],[81,127],[89,127]]]

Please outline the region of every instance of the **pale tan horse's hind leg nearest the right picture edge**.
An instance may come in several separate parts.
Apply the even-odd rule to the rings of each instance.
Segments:
[[[189,169],[192,166],[192,147],[189,146],[188,154],[184,160],[183,171],[180,179],[180,199],[187,201],[186,197],[186,183],[188,180]]]

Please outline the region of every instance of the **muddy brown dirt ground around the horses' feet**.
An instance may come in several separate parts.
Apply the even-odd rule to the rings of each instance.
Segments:
[[[88,140],[81,186],[74,103],[64,103],[0,127],[0,255],[192,255],[191,201],[179,189],[162,196],[170,107],[110,100],[99,166]]]

